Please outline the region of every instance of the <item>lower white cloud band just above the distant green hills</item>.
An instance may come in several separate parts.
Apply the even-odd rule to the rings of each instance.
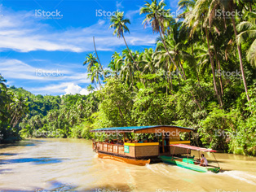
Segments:
[[[86,72],[73,71],[73,68],[82,68],[76,63],[59,66],[61,69],[54,68],[55,64],[47,65],[45,68],[35,68],[18,59],[1,59],[0,74],[7,81],[7,85],[13,85],[15,81],[26,81],[33,83],[32,86],[26,87],[33,94],[88,94],[86,89],[79,85],[88,85],[90,80],[87,79]],[[72,67],[72,68],[71,68]],[[46,85],[45,85],[46,84]],[[80,93],[81,92],[81,93]]]

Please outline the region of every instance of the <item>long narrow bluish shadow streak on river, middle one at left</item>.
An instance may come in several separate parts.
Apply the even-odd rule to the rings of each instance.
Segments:
[[[6,160],[1,160],[0,164],[20,164],[20,163],[57,164],[63,161],[64,159],[41,157],[41,158],[6,159]]]

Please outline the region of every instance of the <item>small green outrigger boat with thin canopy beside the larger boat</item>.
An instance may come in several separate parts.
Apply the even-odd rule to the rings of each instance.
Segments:
[[[174,151],[175,151],[175,147],[180,147],[183,149],[187,149],[187,150],[194,150],[194,151],[198,151],[200,153],[200,151],[203,152],[217,152],[211,149],[206,149],[206,148],[202,148],[202,147],[197,147],[197,146],[188,146],[188,145],[183,145],[183,144],[173,144],[170,146],[174,146]],[[173,155],[171,156],[166,156],[166,155],[161,155],[159,156],[159,158],[166,164],[174,164],[177,165],[181,168],[188,168],[191,169],[193,171],[196,172],[214,172],[214,173],[218,173],[220,171],[220,167],[218,165],[217,166],[213,166],[213,165],[207,165],[206,167],[202,167],[199,165],[199,163],[197,163],[196,160],[194,160],[194,156],[174,156],[174,151],[173,151]],[[214,155],[214,154],[213,154]],[[214,159],[216,160],[215,156]],[[217,164],[218,161],[216,160]]]

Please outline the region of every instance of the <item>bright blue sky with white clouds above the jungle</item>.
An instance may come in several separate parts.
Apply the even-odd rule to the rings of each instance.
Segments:
[[[178,2],[166,1],[166,8],[175,11]],[[108,29],[113,11],[124,11],[130,19],[130,34],[125,36],[131,50],[155,46],[157,34],[143,28],[144,15],[139,15],[143,4],[140,0],[0,1],[0,73],[7,85],[33,94],[87,94],[90,80],[82,63],[95,51],[92,37],[104,68],[115,51],[126,48]]]

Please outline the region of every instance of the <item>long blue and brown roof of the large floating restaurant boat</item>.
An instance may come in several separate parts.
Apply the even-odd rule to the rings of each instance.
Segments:
[[[174,125],[150,125],[150,126],[137,126],[137,127],[114,127],[114,128],[103,128],[103,129],[92,129],[90,132],[117,132],[117,133],[164,133],[168,131],[175,131],[177,129],[179,132],[190,132],[193,129],[184,128]]]

